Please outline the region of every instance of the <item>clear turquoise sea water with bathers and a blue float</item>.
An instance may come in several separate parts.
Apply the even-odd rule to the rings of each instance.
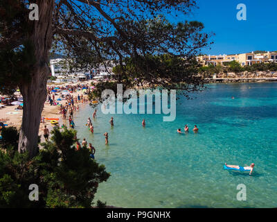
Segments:
[[[92,142],[96,160],[111,172],[95,202],[118,207],[277,207],[277,83],[213,84],[193,96],[177,101],[172,122],[163,122],[163,114],[111,115],[98,109],[93,135],[84,126],[93,108],[80,110],[74,119],[78,137]],[[175,133],[177,128],[184,131],[185,124],[188,135]],[[224,170],[224,162],[256,166],[249,176]],[[239,184],[247,187],[246,201],[236,199]]]

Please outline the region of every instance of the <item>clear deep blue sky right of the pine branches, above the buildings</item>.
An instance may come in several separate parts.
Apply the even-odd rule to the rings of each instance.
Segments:
[[[239,3],[247,6],[247,21],[237,19]],[[199,9],[185,18],[203,22],[205,32],[215,33],[211,50],[205,49],[204,53],[277,51],[276,0],[197,0],[197,5]],[[181,17],[168,19],[177,22]]]

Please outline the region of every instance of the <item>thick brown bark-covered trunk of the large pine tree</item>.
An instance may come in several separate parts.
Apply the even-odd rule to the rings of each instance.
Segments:
[[[19,153],[28,151],[30,157],[37,154],[39,123],[47,97],[48,53],[51,49],[53,31],[52,17],[55,0],[38,1],[39,20],[33,22],[33,33],[28,39],[35,49],[35,65],[30,74],[30,82],[19,85],[24,99],[22,125],[19,135]],[[27,15],[26,15],[27,16]]]

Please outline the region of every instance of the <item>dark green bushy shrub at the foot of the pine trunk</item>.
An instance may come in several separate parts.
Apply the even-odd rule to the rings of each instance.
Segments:
[[[98,184],[109,173],[89,157],[87,148],[75,151],[74,130],[54,128],[51,134],[51,142],[42,144],[32,159],[1,144],[0,207],[91,207]],[[28,198],[31,184],[39,187],[37,201]]]

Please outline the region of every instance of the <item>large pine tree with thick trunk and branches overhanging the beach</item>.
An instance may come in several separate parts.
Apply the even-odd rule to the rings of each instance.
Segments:
[[[18,151],[28,151],[30,157],[37,155],[50,52],[74,58],[73,65],[84,69],[105,60],[114,60],[123,66],[123,61],[129,57],[135,67],[145,67],[142,73],[145,76],[138,81],[167,87],[168,83],[184,80],[182,74],[172,76],[168,71],[163,78],[157,78],[157,72],[152,69],[162,62],[156,60],[152,66],[152,58],[145,55],[170,54],[186,58],[188,65],[194,67],[194,56],[209,44],[210,35],[203,32],[201,22],[172,24],[164,16],[172,11],[187,15],[196,6],[193,0],[32,1],[39,7],[39,21],[28,19],[28,3],[24,0],[0,3],[3,18],[0,21],[0,80],[1,85],[5,85],[1,93],[8,94],[19,87],[23,96]],[[186,80],[197,86],[201,81],[194,77],[188,76]],[[128,78],[123,69],[116,81],[133,85]]]

